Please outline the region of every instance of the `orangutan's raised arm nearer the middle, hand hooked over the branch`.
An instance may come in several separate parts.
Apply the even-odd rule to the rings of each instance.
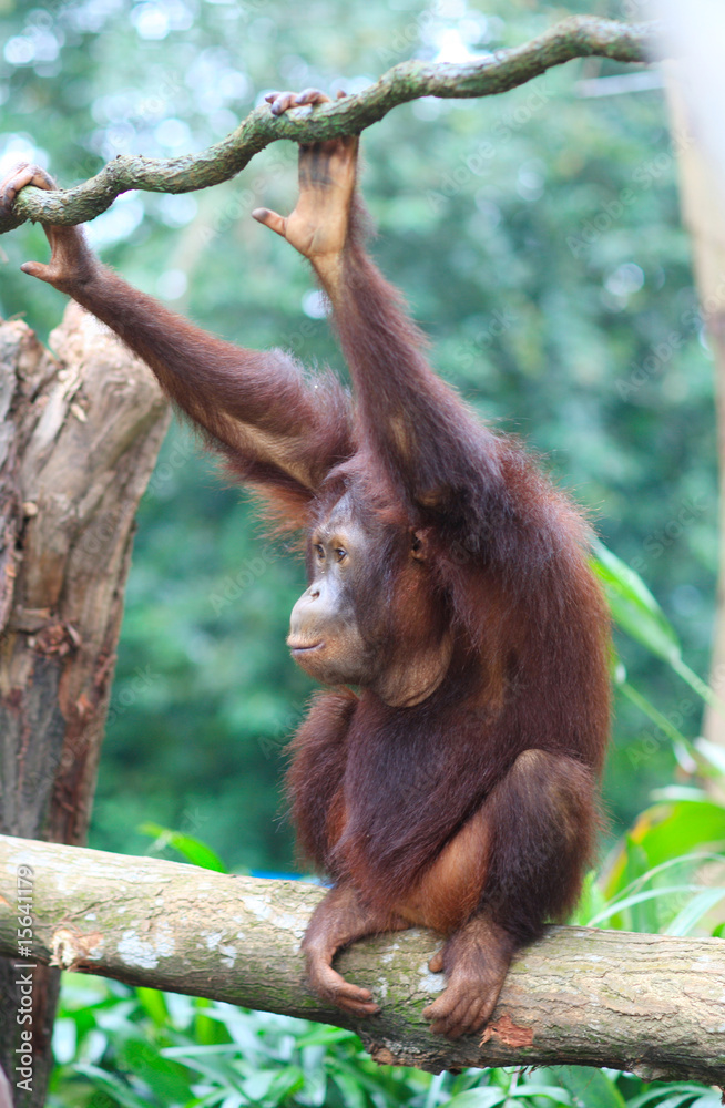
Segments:
[[[319,103],[308,90],[277,94],[273,111]],[[300,147],[300,198],[283,218],[255,217],[305,255],[329,296],[357,401],[361,443],[420,510],[450,522],[473,491],[504,495],[502,447],[430,369],[425,338],[400,294],[366,254],[356,197],[357,136]],[[462,521],[461,521],[462,522]]]

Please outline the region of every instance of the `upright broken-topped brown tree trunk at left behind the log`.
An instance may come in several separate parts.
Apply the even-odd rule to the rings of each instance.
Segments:
[[[51,343],[57,358],[25,324],[0,324],[0,830],[82,843],[133,520],[167,403],[151,371],[75,305]],[[13,1086],[17,978],[0,960],[0,1067]],[[16,1089],[23,1108],[44,1102],[57,995],[58,973],[39,966],[24,1025],[33,1091]]]

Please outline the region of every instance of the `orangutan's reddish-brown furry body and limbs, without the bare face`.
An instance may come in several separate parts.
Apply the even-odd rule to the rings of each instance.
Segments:
[[[375,1010],[331,970],[335,951],[428,924],[451,936],[428,1014],[456,1035],[488,1018],[512,951],[565,917],[591,862],[607,617],[581,515],[432,373],[358,225],[327,288],[355,407],[329,375],[308,382],[287,355],[228,346],[130,288],[75,228],[50,228],[50,267],[28,271],[144,358],[282,525],[309,531],[345,494],[366,535],[364,640],[384,674],[441,659],[445,679],[410,707],[379,680],[315,697],[287,783],[300,848],[337,883],[305,940],[315,988]]]

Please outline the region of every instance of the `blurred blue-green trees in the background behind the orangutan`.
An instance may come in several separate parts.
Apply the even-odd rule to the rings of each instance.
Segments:
[[[32,158],[61,185],[118,153],[201,150],[265,92],[356,91],[410,57],[460,61],[570,13],[632,2],[527,0],[0,0],[0,168]],[[636,9],[636,10],[634,10]],[[676,166],[657,72],[592,59],[501,98],[423,100],[366,132],[375,254],[432,340],[439,371],[522,435],[651,586],[706,674],[716,449]],[[675,143],[678,141],[674,136]],[[235,181],[132,193],[89,225],[103,259],[203,327],[306,362],[341,359],[308,270],[254,224],[287,211],[296,152]],[[18,271],[40,227],[1,244],[0,314],[43,338],[63,297]],[[152,820],[236,868],[292,871],[279,782],[312,691],[284,646],[299,560],[261,534],[238,490],[175,425],[144,499],[90,844],[142,852]],[[696,696],[631,642],[632,681],[685,735]],[[673,780],[670,740],[617,702],[611,834]]]

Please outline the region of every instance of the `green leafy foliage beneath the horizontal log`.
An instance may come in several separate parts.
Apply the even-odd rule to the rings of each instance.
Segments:
[[[377,1066],[351,1032],[67,975],[49,1108],[715,1108],[695,1083],[614,1070]],[[74,1060],[73,1060],[74,1059]]]

